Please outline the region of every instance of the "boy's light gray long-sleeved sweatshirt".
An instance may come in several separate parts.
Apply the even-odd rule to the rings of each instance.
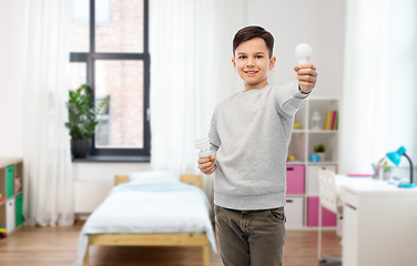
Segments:
[[[285,205],[294,116],[307,95],[294,81],[240,92],[216,106],[208,133],[217,163],[215,205],[246,211]]]

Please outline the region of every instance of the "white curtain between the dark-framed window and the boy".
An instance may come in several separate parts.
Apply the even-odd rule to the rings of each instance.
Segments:
[[[243,88],[231,60],[246,1],[150,2],[151,163],[197,174],[194,140],[207,136],[216,104]],[[211,177],[204,186],[211,197]]]

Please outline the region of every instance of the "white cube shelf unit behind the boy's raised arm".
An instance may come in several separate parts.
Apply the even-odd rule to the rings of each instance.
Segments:
[[[287,195],[287,200],[303,198],[303,225],[289,226],[288,229],[317,229],[317,226],[307,225],[308,216],[308,197],[318,197],[318,168],[326,168],[337,172],[338,168],[338,146],[339,134],[337,130],[312,130],[312,116],[314,112],[321,115],[321,127],[324,129],[326,112],[339,112],[339,98],[328,96],[309,96],[305,105],[298,110],[295,115],[295,124],[302,124],[302,129],[293,130],[292,141],[288,147],[288,155],[295,156],[295,161],[288,161],[287,165],[304,165],[305,166],[305,193],[303,195]],[[340,116],[340,115],[339,115]],[[314,153],[314,146],[324,144],[325,161],[313,163],[309,162],[311,154]],[[318,211],[318,208],[317,208]],[[294,212],[294,209],[292,209]],[[287,223],[291,223],[287,221]],[[317,223],[318,224],[318,223]],[[325,226],[323,229],[336,229],[336,226]]]

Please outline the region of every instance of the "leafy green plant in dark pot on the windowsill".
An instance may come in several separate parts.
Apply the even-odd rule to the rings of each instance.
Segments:
[[[89,84],[82,84],[77,91],[70,90],[69,93],[65,126],[70,130],[71,152],[74,157],[87,157],[91,147],[91,136],[99,123],[96,116],[110,101],[110,96],[94,106]]]

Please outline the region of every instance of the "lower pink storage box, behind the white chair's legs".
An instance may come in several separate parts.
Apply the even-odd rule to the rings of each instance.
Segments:
[[[322,226],[336,226],[337,215],[322,206]],[[307,197],[307,226],[318,226],[318,196]]]

